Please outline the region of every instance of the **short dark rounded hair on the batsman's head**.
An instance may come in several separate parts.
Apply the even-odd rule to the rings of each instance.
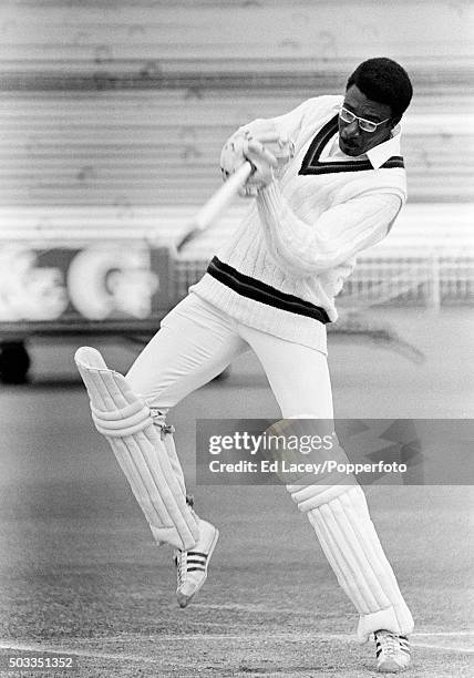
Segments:
[[[388,104],[398,123],[410,105],[413,88],[406,71],[392,59],[378,56],[363,61],[349,76],[346,90],[352,85],[368,99]]]

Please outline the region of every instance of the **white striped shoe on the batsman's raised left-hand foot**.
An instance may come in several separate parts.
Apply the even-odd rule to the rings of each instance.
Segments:
[[[216,546],[219,532],[207,521],[199,518],[199,541],[192,551],[175,551],[179,607],[186,607],[207,579],[207,566]]]

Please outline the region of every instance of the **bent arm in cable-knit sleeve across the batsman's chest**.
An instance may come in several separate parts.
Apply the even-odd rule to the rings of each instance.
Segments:
[[[402,201],[391,193],[362,195],[331,207],[309,224],[295,215],[272,182],[259,191],[257,205],[274,259],[293,275],[308,276],[333,268],[382,240]]]

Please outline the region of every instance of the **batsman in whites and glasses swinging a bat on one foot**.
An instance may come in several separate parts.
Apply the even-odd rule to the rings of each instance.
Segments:
[[[384,238],[406,201],[400,121],[412,97],[405,70],[361,63],[341,95],[309,99],[238,129],[224,145],[225,178],[245,162],[241,224],[203,278],[162,320],[126,377],[94,349],[76,363],[97,430],[112,445],[157,543],[174,548],[177,602],[200,589],[218,538],[186,499],[167,412],[251,349],[288,419],[332,420],[327,325],[356,255]],[[334,472],[336,473],[336,472]],[[356,480],[288,484],[375,640],[381,672],[410,665],[413,619]]]

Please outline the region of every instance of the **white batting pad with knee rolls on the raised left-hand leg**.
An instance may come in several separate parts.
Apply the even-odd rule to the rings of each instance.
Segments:
[[[155,538],[182,551],[193,548],[199,536],[197,518],[186,504],[182,473],[173,468],[148,407],[122,374],[106,367],[97,350],[82,347],[74,360],[95,428],[110,442]]]

